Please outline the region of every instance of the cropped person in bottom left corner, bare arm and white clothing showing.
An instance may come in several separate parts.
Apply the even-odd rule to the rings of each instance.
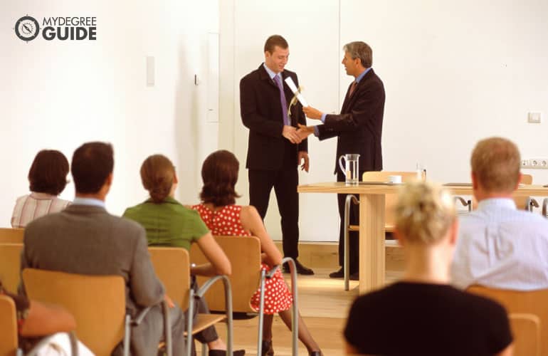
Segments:
[[[38,350],[41,355],[71,355],[68,333],[76,328],[73,315],[56,305],[45,305],[36,300],[28,300],[22,295],[9,293],[0,281],[0,295],[14,300],[19,331],[19,347],[27,352],[42,337],[48,336],[46,345]],[[88,347],[78,342],[78,355],[92,356]]]

